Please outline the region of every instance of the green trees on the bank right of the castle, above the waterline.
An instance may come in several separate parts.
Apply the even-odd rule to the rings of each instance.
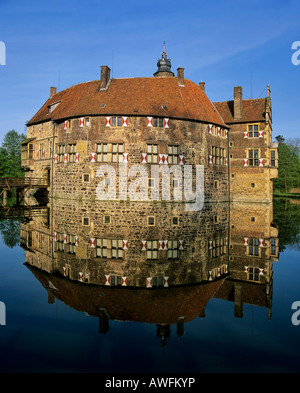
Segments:
[[[289,192],[292,188],[300,188],[300,148],[285,143],[278,135],[278,178],[274,179],[274,191]]]

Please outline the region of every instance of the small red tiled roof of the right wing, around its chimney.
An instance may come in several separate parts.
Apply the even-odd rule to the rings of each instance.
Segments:
[[[226,124],[265,121],[265,98],[243,100],[242,119],[240,120],[234,120],[233,118],[233,101],[214,102],[214,105]]]

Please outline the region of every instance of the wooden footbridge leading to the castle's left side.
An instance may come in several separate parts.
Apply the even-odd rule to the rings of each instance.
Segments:
[[[24,201],[24,193],[30,188],[47,188],[49,183],[47,179],[32,177],[1,177],[0,178],[0,204],[6,205],[7,192],[16,190],[17,206]],[[1,201],[2,199],[2,201]],[[25,201],[24,201],[25,202]]]

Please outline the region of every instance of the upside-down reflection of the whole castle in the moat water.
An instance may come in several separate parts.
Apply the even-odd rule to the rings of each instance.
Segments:
[[[34,210],[33,210],[34,211]],[[186,212],[182,203],[52,200],[21,224],[25,266],[69,307],[109,321],[170,326],[205,316],[212,298],[264,307],[271,318],[278,229],[270,203],[212,203]]]

